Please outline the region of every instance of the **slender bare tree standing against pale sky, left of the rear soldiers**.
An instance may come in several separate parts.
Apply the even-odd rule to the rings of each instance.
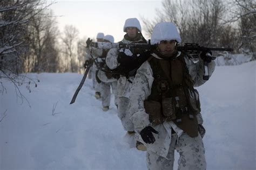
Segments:
[[[73,25],[65,25],[62,41],[64,44],[64,55],[66,59],[66,72],[77,72],[77,55],[75,53],[76,39],[78,38],[78,29]],[[70,66],[70,67],[69,67]]]

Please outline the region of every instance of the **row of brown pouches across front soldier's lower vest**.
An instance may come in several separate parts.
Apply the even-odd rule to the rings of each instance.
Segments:
[[[182,124],[184,117],[193,121],[200,112],[199,94],[196,89],[179,87],[175,92],[173,97],[162,97],[160,101],[144,101],[145,111],[153,125],[164,121]]]

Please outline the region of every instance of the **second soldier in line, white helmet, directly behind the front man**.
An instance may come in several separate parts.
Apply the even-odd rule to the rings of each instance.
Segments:
[[[126,33],[121,42],[125,44],[133,43],[147,43],[145,38],[142,36],[142,28],[137,18],[128,18],[125,21],[123,31]],[[129,49],[121,49],[118,51],[117,48],[110,49],[107,53],[106,64],[110,69],[116,69],[120,66],[120,63],[124,62],[123,56],[132,55]],[[127,64],[127,63],[126,63]],[[123,74],[117,82],[117,95],[118,100],[118,117],[122,121],[122,125],[128,134],[134,135],[134,125],[130,120],[129,104],[130,104],[130,88],[134,74]],[[142,146],[141,150],[146,150],[144,145],[138,143],[137,146]]]

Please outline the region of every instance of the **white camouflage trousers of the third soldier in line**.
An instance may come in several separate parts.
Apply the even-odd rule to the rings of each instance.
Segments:
[[[110,87],[112,88],[112,92],[114,94],[114,104],[118,104],[117,100],[117,81],[113,82],[101,82],[100,86],[102,87],[100,94],[102,97],[102,105],[103,107],[109,107],[110,106],[110,100],[111,100],[111,92],[110,92]]]

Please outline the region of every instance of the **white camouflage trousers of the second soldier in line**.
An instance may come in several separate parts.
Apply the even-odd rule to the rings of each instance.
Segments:
[[[119,97],[117,116],[120,118],[122,125],[124,126],[124,130],[134,131],[134,125],[130,119],[129,105],[129,98]]]

